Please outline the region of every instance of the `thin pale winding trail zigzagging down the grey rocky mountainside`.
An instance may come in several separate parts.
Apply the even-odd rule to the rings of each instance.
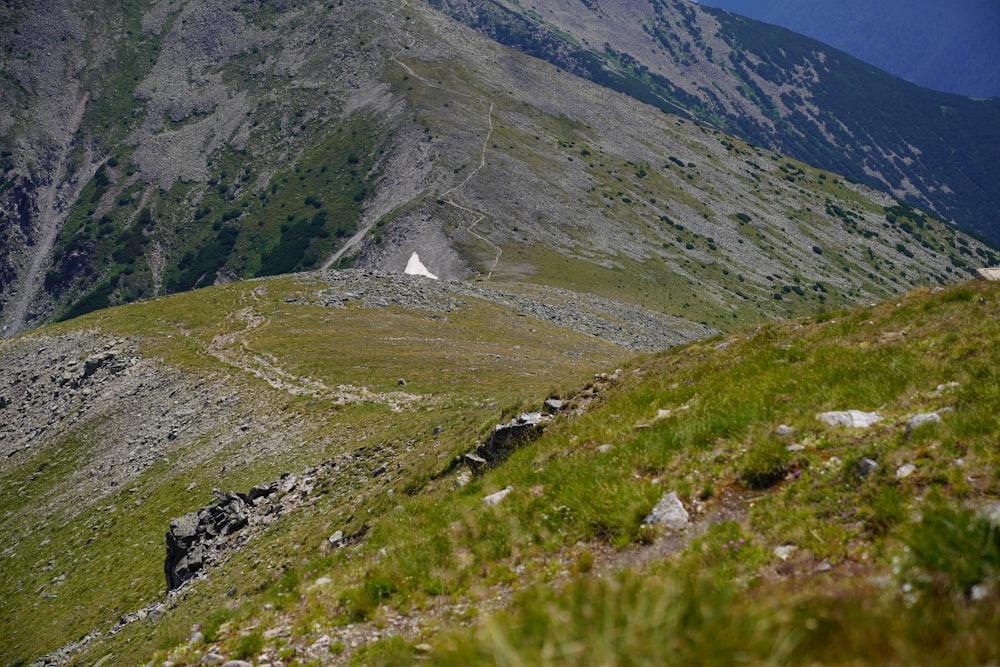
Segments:
[[[408,6],[409,6],[408,2],[405,2],[405,1],[402,2],[399,7],[397,7],[396,9],[394,9],[393,11],[391,11],[391,12],[389,12],[387,14],[384,14],[383,17],[382,17],[382,19],[376,21],[376,23],[378,25],[382,26],[383,28],[385,28],[387,31],[389,31],[391,33],[393,30],[396,30],[397,28],[394,28],[393,26],[389,25],[388,19],[394,17],[401,10],[405,9]],[[482,211],[478,211],[478,210],[475,210],[475,209],[472,209],[472,208],[469,208],[467,206],[463,206],[463,205],[459,204],[458,202],[456,202],[454,200],[454,198],[452,198],[452,195],[454,195],[458,190],[460,190],[462,187],[464,187],[466,184],[468,184],[469,181],[471,181],[473,178],[475,178],[476,175],[478,175],[479,172],[482,171],[482,169],[486,166],[486,149],[487,149],[487,147],[489,147],[490,138],[493,135],[493,110],[494,110],[494,108],[495,108],[496,105],[490,99],[483,98],[483,97],[478,97],[476,95],[472,95],[471,93],[467,93],[467,92],[462,91],[462,90],[455,90],[453,88],[447,88],[445,86],[442,86],[442,85],[439,85],[437,83],[434,83],[434,82],[430,81],[429,79],[427,79],[426,77],[424,77],[423,75],[421,75],[421,74],[417,73],[416,71],[414,71],[412,67],[410,67],[405,62],[403,62],[402,60],[400,60],[399,56],[404,51],[406,51],[406,50],[410,49],[411,47],[413,47],[413,45],[417,43],[417,38],[410,31],[406,30],[405,28],[398,28],[398,29],[402,30],[406,34],[406,36],[409,38],[409,41],[407,42],[407,44],[405,46],[401,46],[392,55],[392,57],[391,57],[392,62],[394,62],[397,65],[399,65],[400,67],[402,67],[409,76],[413,77],[414,79],[417,79],[418,81],[420,81],[421,83],[423,83],[425,86],[427,86],[429,88],[436,88],[437,90],[441,90],[441,91],[444,91],[444,92],[447,92],[447,93],[451,93],[453,95],[458,95],[458,96],[461,96],[461,97],[467,97],[469,99],[476,100],[477,102],[479,102],[480,104],[482,104],[484,107],[487,107],[487,105],[489,105],[487,107],[487,111],[486,111],[486,124],[487,124],[487,127],[489,129],[486,132],[486,137],[483,139],[483,147],[482,147],[482,149],[480,150],[480,153],[479,153],[479,164],[476,166],[475,169],[473,169],[471,172],[469,172],[469,174],[464,179],[462,179],[462,181],[460,183],[458,183],[454,187],[449,188],[448,190],[445,190],[443,193],[441,193],[441,196],[440,196],[440,199],[442,201],[444,201],[446,204],[448,204],[449,206],[452,206],[455,209],[458,209],[459,211],[462,211],[463,213],[465,213],[467,216],[469,216],[471,218],[472,221],[465,228],[465,231],[467,231],[469,234],[471,234],[472,236],[476,237],[477,239],[479,239],[480,241],[482,241],[483,243],[485,243],[487,246],[490,246],[496,252],[496,255],[493,258],[493,263],[490,265],[489,270],[487,271],[487,274],[486,274],[486,279],[489,280],[490,278],[493,277],[493,272],[496,270],[497,265],[500,263],[500,256],[503,255],[503,248],[501,248],[499,245],[497,245],[496,243],[494,243],[493,241],[491,241],[486,236],[483,236],[482,234],[480,234],[480,233],[478,233],[478,232],[475,231],[475,227],[479,223],[481,223],[483,220],[485,220],[487,217],[489,217],[489,216],[486,213],[482,212]],[[427,189],[429,189],[429,187],[430,186],[428,186],[428,188],[424,189],[424,193],[427,192]],[[370,224],[366,225],[364,228],[358,230],[353,236],[351,236],[350,239],[347,240],[346,243],[344,243],[343,246],[341,246],[336,252],[334,252],[329,257],[329,259],[327,259],[325,262],[323,262],[323,264],[321,265],[320,269],[324,270],[324,271],[327,270],[327,269],[329,269],[335,262],[339,261],[340,258],[343,257],[348,251],[350,251],[350,250],[352,250],[354,248],[359,247],[361,245],[361,242],[368,235],[368,233],[371,232],[372,228],[375,226],[375,224],[377,222],[378,222],[377,220],[376,221],[372,221]]]

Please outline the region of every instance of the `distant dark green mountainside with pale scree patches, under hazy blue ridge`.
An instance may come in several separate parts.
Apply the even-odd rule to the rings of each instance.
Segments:
[[[578,76],[1000,241],[998,163],[987,148],[1000,143],[998,100],[920,88],[816,40],[689,0],[440,5]]]

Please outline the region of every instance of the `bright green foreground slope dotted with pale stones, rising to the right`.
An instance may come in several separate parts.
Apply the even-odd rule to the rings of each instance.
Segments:
[[[336,505],[321,499],[259,545],[284,559],[280,578],[240,556],[89,659],[144,656],[140,640],[178,664],[208,651],[309,664],[328,635],[320,662],[411,664],[417,643],[435,664],[994,661],[1000,552],[975,512],[998,499],[998,339],[1000,288],[972,283],[637,360],[485,477],[383,496],[365,539],[333,553],[320,546]],[[884,420],[815,418],[846,409]],[[935,410],[941,423],[906,427]],[[862,475],[865,457],[877,467]],[[691,512],[686,532],[642,525],[664,490]],[[475,622],[512,592],[510,615]],[[338,639],[400,614],[421,619],[404,638]],[[195,619],[213,634],[187,645]]]

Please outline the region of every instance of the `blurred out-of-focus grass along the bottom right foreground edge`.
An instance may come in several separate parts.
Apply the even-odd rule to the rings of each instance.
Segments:
[[[863,588],[809,593],[792,601],[768,586],[751,597],[716,579],[630,572],[577,578],[561,590],[530,589],[474,634],[450,633],[433,658],[445,666],[948,665],[998,653],[992,605],[901,607]]]

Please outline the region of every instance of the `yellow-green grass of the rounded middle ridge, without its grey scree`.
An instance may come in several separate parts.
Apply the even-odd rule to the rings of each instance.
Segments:
[[[342,488],[367,495],[366,476],[375,465],[369,461],[391,452],[392,461],[403,463],[394,483],[419,489],[504,409],[537,403],[565,383],[580,382],[595,365],[625,356],[592,336],[513,317],[476,299],[463,301],[444,319],[398,307],[332,309],[286,301],[315,289],[291,278],[231,284],[99,311],[25,336],[30,342],[96,328],[138,340],[144,357],[185,373],[189,387],[224,385],[237,407],[199,439],[185,441],[182,430],[169,465],[157,463],[125,488],[79,498],[75,507],[60,505],[60,498],[66,502],[60,493],[74,497],[67,480],[91,465],[101,423],[63,424],[53,429],[56,436],[33,445],[38,454],[8,460],[0,485],[0,525],[12,547],[0,577],[5,664],[37,657],[91,629],[106,630],[110,619],[162,595],[168,520],[210,502],[211,488],[246,491],[282,472],[368,448]],[[231,363],[213,356],[213,349]],[[261,365],[261,358],[270,365]],[[292,388],[273,389],[247,369],[264,369],[265,377],[284,378]],[[340,385],[385,395],[398,389],[399,378],[407,380],[405,392],[416,396],[408,408],[395,411],[379,398],[338,404]],[[316,382],[329,391],[293,393]],[[213,404],[225,390],[212,397]],[[172,396],[162,397],[164,409],[172,402]],[[133,404],[123,397],[108,419],[127,424]],[[258,418],[266,422],[263,435],[254,428],[231,437],[241,420]],[[434,434],[438,425],[441,432]],[[261,438],[277,446],[262,454]],[[205,459],[199,450],[211,449],[213,441],[228,445]],[[418,455],[410,458],[410,451]],[[44,474],[33,477],[39,470]],[[194,492],[186,489],[191,482],[197,484]],[[347,503],[339,496],[334,502],[335,509]],[[56,595],[40,597],[42,591]]]

